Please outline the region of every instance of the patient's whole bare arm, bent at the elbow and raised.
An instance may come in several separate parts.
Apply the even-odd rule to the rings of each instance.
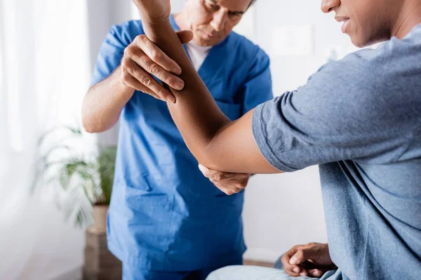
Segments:
[[[190,151],[202,165],[222,172],[279,173],[265,160],[253,137],[250,111],[231,122],[208,92],[169,22],[169,0],[133,0],[148,38],[180,65],[184,90],[172,90],[171,115]]]

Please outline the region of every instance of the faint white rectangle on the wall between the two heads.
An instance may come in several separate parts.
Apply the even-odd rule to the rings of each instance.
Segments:
[[[314,28],[312,25],[284,25],[272,29],[272,55],[313,55]]]

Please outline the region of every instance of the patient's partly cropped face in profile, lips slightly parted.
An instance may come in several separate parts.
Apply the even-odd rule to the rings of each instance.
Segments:
[[[388,40],[401,10],[402,0],[322,0],[323,13],[335,11],[342,32],[357,47]]]

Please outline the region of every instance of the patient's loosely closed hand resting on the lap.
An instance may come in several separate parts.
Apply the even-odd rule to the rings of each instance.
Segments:
[[[290,248],[281,258],[283,269],[290,276],[320,278],[328,270],[338,268],[330,259],[329,245],[309,243]]]

